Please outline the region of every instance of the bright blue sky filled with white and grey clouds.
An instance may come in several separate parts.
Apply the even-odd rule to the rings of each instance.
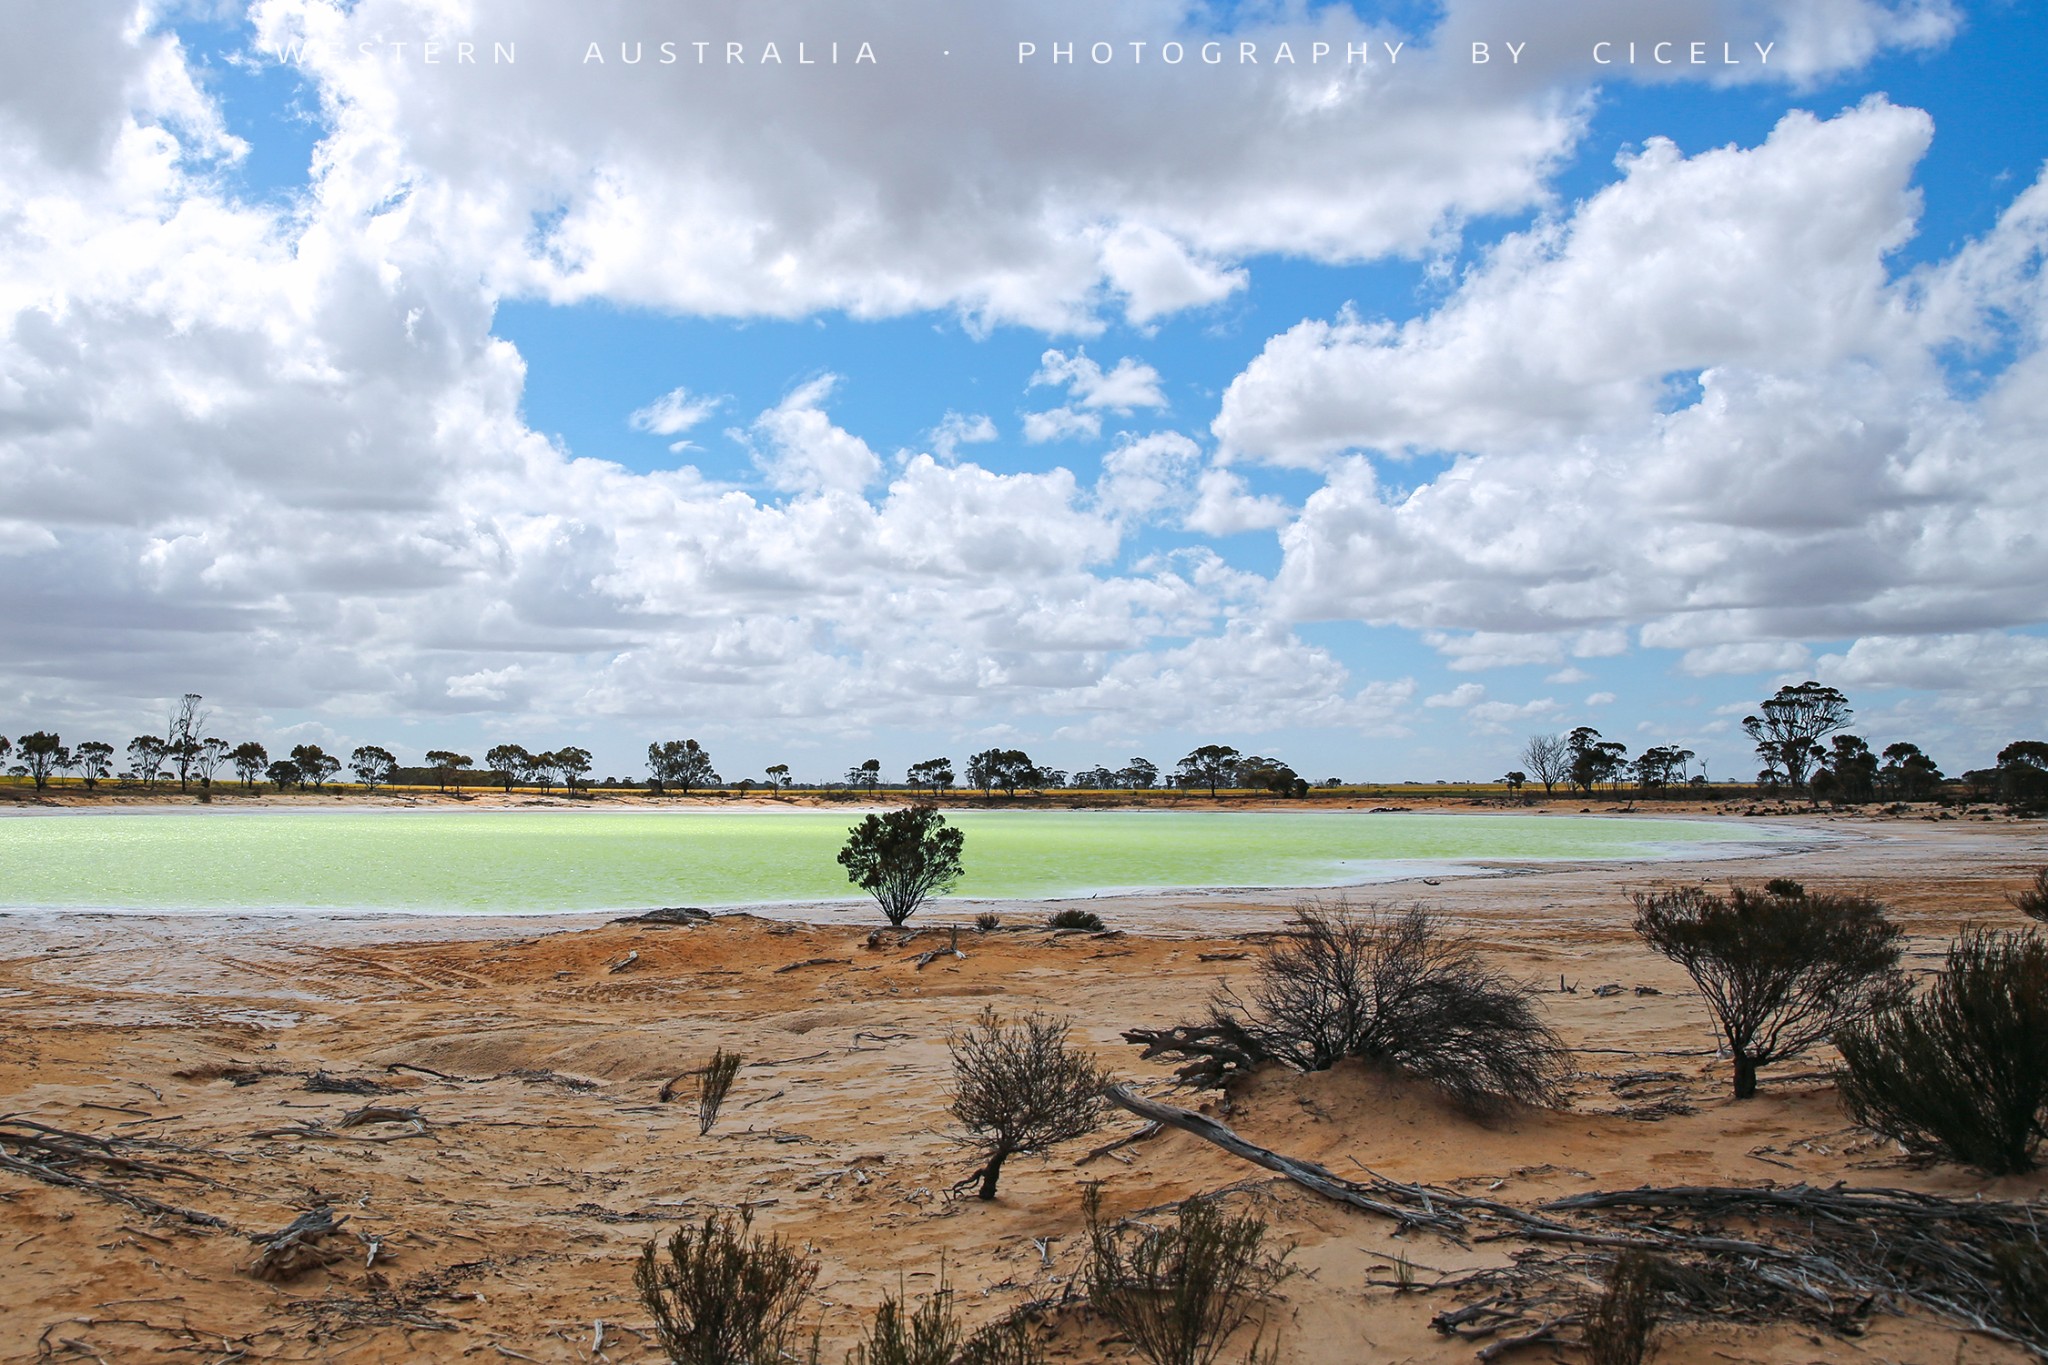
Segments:
[[[2042,70],[2017,0],[0,0],[0,731],[1718,778],[1817,677],[1987,765]]]

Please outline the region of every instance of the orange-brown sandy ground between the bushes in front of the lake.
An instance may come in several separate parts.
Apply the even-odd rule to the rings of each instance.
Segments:
[[[1481,1126],[1411,1087],[1339,1070],[1262,1076],[1233,1097],[1229,1121],[1337,1171],[1366,1164],[1518,1201],[1837,1179],[2044,1197],[2040,1177],[1903,1162],[1847,1128],[1819,1056],[1767,1070],[1757,1101],[1726,1099],[1706,1015],[1628,933],[1626,890],[1731,876],[1866,890],[1894,907],[1913,933],[1909,964],[1927,968],[1964,923],[2021,923],[2005,896],[2048,864],[2048,827],[1772,821],[1837,837],[1741,862],[1503,868],[1354,890],[1427,905],[1470,929],[1491,962],[1552,984],[1544,1009],[1585,1050],[1571,1111]],[[1257,952],[1241,935],[1278,927],[1298,898],[1096,900],[1120,937],[1055,935],[1030,927],[1044,905],[1014,902],[1001,909],[1014,931],[967,933],[965,960],[924,968],[915,958],[944,941],[954,907],[924,917],[915,939],[874,948],[872,913],[815,907],[815,923],[733,915],[688,929],[584,915],[0,915],[0,1111],[147,1134],[168,1144],[156,1160],[213,1183],[137,1189],[233,1228],[281,1228],[328,1203],[385,1246],[367,1267],[365,1244],[346,1238],[348,1259],[264,1283],[246,1273],[252,1244],[231,1232],[0,1173],[0,1361],[592,1361],[600,1318],[602,1359],[657,1361],[631,1293],[633,1252],[737,1203],[819,1248],[815,1312],[836,1361],[879,1291],[899,1277],[922,1291],[940,1254],[971,1320],[1061,1300],[1079,1257],[1081,1181],[1102,1181],[1112,1212],[1241,1187],[1233,1201],[1264,1212],[1313,1273],[1286,1289],[1282,1361],[1470,1361],[1483,1342],[1427,1326],[1450,1300],[1374,1281],[1397,1254],[1427,1283],[1499,1265],[1509,1248],[1395,1236],[1186,1134],[1085,1164],[1090,1142],[1018,1162],[993,1205],[948,1193],[971,1162],[948,1136],[946,1029],[991,1003],[1049,1009],[1073,1017],[1118,1074],[1163,1093],[1165,1068],[1141,1062],[1120,1029],[1196,1015]],[[1610,982],[1622,990],[1593,993]],[[748,1066],[719,1128],[698,1136],[692,1107],[655,1093],[717,1046]],[[381,1093],[309,1089],[319,1074]],[[422,1126],[336,1128],[365,1103],[418,1109]],[[1100,1140],[1135,1128],[1112,1124]],[[1059,1361],[1130,1359],[1079,1308],[1055,1312],[1053,1328]],[[1884,1314],[1864,1336],[1724,1324],[1659,1340],[1659,1361],[1702,1365],[2025,1359]]]

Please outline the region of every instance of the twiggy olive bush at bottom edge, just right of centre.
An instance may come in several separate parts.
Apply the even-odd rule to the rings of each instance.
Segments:
[[[1083,1193],[1087,1302],[1153,1365],[1210,1365],[1292,1273],[1266,1248],[1266,1220],[1188,1199],[1171,1228],[1102,1222],[1102,1193]],[[1264,1334],[1264,1328],[1262,1328]],[[1257,1361],[1257,1340],[1245,1355]]]

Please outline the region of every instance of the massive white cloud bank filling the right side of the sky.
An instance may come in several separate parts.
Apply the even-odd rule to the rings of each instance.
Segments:
[[[1894,280],[1925,139],[1923,115],[1870,102],[1755,149],[1651,151],[1436,313],[1278,338],[1217,430],[1327,465],[1282,530],[1282,610],[1434,630],[1454,667],[1638,628],[1700,673],[2040,620],[2048,186]],[[2017,354],[1956,393],[1948,350],[1999,338]],[[1665,411],[1673,366],[1700,366],[1698,393]],[[1329,454],[1403,444],[1470,454],[1409,491]]]

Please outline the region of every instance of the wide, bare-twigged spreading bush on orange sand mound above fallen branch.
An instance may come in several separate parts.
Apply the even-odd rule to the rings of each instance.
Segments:
[[[1470,941],[1421,907],[1305,905],[1245,997],[1225,988],[1204,1025],[1124,1033],[1147,1056],[1198,1058],[1184,1078],[1221,1085],[1276,1060],[1327,1070],[1362,1058],[1436,1085],[1470,1109],[1563,1103],[1571,1054],[1534,990],[1481,964]]]

